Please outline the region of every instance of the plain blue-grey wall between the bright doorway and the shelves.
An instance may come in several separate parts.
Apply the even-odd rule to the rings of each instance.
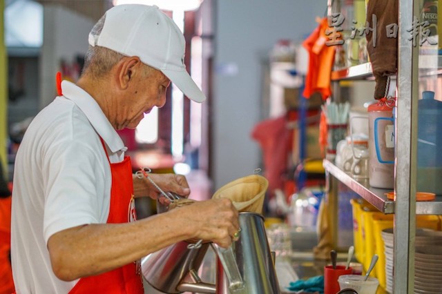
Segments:
[[[214,4],[211,174],[214,188],[220,188],[262,168],[258,166],[260,147],[250,136],[261,119],[262,60],[279,39],[302,41],[309,35],[317,26],[315,17],[324,16],[327,1],[219,0]]]

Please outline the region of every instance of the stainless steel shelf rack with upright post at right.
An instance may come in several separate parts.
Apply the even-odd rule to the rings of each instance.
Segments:
[[[332,12],[332,1],[328,0]],[[419,81],[442,75],[442,57],[419,56],[419,46],[413,46],[410,32],[413,21],[421,14],[421,3],[417,0],[399,0],[398,5],[398,71],[396,112],[396,202],[387,201],[384,190],[370,188],[357,182],[332,162],[324,161],[327,173],[327,188],[330,213],[337,217],[338,182],[352,188],[364,199],[384,213],[394,213],[394,293],[414,292],[414,249],[416,235],[416,214],[442,215],[442,199],[434,202],[416,202],[417,179],[417,117]],[[436,61],[437,60],[437,61]],[[372,79],[372,68],[368,63],[332,72],[332,81]],[[336,83],[338,84],[338,83]],[[334,223],[332,221],[332,223]],[[332,236],[337,239],[337,228],[331,224]]]

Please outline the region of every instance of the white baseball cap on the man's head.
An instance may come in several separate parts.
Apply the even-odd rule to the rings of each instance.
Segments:
[[[98,36],[89,34],[90,46],[101,46],[126,56],[140,57],[160,70],[187,97],[206,99],[184,65],[185,41],[180,28],[157,6],[119,5],[106,11]]]

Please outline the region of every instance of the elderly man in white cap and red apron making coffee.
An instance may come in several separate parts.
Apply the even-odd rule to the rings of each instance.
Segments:
[[[17,153],[12,271],[17,293],[143,293],[137,260],[186,239],[222,247],[238,236],[238,211],[211,199],[136,220],[134,197],[160,196],[131,173],[115,130],[135,128],[166,100],[171,81],[205,97],[184,66],[184,37],[155,6],[108,10],[91,30],[77,84],[30,124]],[[186,197],[180,175],[149,175]]]

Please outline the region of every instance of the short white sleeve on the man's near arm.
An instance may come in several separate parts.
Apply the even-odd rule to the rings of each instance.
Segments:
[[[110,195],[106,195],[105,177],[111,177],[111,173],[102,158],[104,151],[99,146],[93,148],[90,139],[76,139],[56,144],[48,152],[51,154],[44,160],[46,243],[51,235],[64,229],[106,223]]]

